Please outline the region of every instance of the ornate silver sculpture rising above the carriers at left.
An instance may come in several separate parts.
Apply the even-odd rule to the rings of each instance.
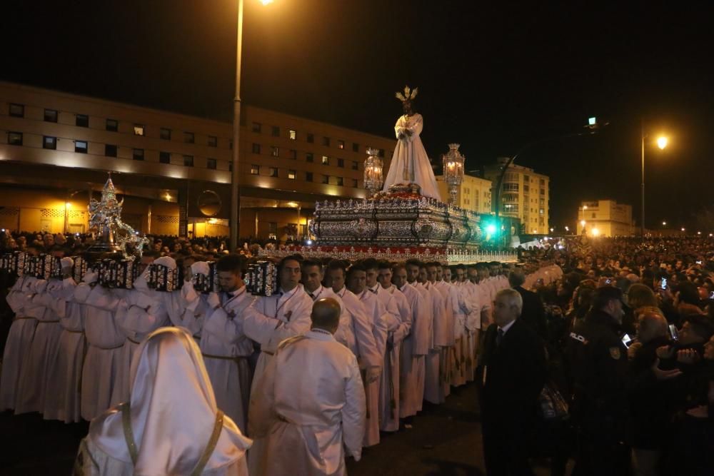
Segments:
[[[145,236],[139,236],[134,228],[121,221],[121,207],[124,199],[116,199],[116,189],[111,181],[111,173],[104,188],[101,191],[99,201],[91,199],[89,202],[89,229],[97,233],[96,243],[90,250],[96,251],[120,251],[125,258],[130,254],[128,245],[134,248],[134,252],[141,256],[144,244],[149,243]],[[89,250],[88,250],[89,251]]]

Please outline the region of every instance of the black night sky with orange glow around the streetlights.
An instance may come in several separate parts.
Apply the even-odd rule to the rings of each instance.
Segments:
[[[551,224],[582,200],[683,226],[711,206],[714,11],[700,2],[246,0],[243,103],[392,137],[394,92],[418,86],[423,142],[461,143],[467,170],[543,138],[518,163],[550,176]],[[703,2],[701,2],[703,3]],[[230,120],[237,0],[33,1],[4,6],[0,78]]]

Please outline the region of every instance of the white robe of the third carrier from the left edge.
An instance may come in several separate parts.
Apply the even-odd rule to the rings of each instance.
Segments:
[[[62,333],[59,335],[56,360],[50,363],[48,370],[45,393],[49,397],[44,400],[43,415],[45,420],[73,423],[81,420],[79,385],[86,345],[86,308],[74,303],[74,279],[66,278],[62,284],[63,288],[58,297],[61,299],[61,305],[64,304],[64,313],[59,315]]]

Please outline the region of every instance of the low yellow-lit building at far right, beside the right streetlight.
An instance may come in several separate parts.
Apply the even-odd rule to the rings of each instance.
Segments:
[[[578,208],[578,235],[633,236],[632,206],[614,200],[585,201]]]

